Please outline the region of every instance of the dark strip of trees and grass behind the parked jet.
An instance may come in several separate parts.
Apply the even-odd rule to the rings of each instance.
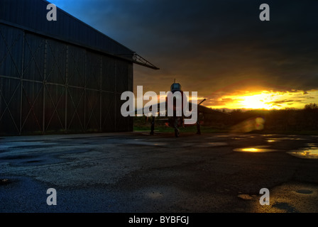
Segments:
[[[261,113],[261,114],[260,114]],[[305,111],[249,111],[249,112],[234,112],[229,119],[219,119],[212,121],[212,125],[201,126],[202,133],[231,133],[232,127],[237,123],[241,123],[248,118],[265,115],[266,127],[261,131],[250,131],[248,133],[257,134],[285,134],[285,135],[318,135],[317,127],[309,127],[315,124],[318,113],[307,114]],[[288,120],[291,116],[299,115],[296,126],[292,126]],[[305,116],[304,116],[305,115]],[[165,118],[165,117],[163,117]],[[275,120],[275,121],[274,121]],[[300,121],[302,120],[302,121]],[[135,117],[133,119],[133,131],[149,131],[151,126],[151,118],[146,116]],[[165,126],[165,122],[160,121],[160,117],[155,118],[155,131],[162,133],[174,133],[174,129]],[[292,121],[291,121],[292,122]],[[213,124],[214,123],[214,124]],[[219,124],[215,124],[219,123]],[[181,133],[196,133],[197,126],[187,126],[180,128]]]

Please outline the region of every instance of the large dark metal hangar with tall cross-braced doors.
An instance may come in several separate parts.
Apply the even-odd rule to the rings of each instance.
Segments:
[[[133,131],[133,52],[47,1],[0,0],[0,134]]]

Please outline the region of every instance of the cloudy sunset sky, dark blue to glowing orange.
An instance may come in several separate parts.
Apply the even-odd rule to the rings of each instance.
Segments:
[[[318,104],[316,0],[50,2],[160,68],[134,65],[135,92],[168,92],[176,79],[214,109]]]

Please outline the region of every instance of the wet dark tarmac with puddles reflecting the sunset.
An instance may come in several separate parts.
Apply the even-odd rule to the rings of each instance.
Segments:
[[[1,213],[317,213],[318,136],[1,137],[0,192]]]

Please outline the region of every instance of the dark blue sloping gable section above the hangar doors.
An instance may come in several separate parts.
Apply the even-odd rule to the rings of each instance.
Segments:
[[[46,0],[1,0],[0,22],[158,70],[133,50],[58,7],[57,21],[48,21],[48,4]]]

